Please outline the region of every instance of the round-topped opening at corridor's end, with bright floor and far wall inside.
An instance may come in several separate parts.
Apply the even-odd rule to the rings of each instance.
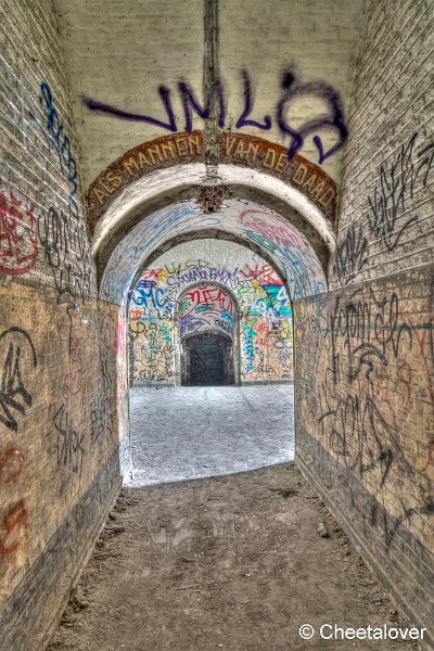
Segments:
[[[174,242],[138,278],[128,321],[133,484],[290,461],[292,309],[276,268],[208,237]]]

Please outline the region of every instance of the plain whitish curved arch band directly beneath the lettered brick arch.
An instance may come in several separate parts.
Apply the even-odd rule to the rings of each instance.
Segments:
[[[266,141],[265,141],[266,142]],[[304,165],[301,165],[304,167]],[[317,175],[311,175],[316,178]],[[310,176],[309,176],[310,178]],[[329,218],[297,187],[275,176],[250,167],[220,165],[218,178],[206,178],[203,164],[175,165],[139,177],[127,184],[101,213],[92,240],[92,254],[101,278],[116,245],[137,225],[153,213],[181,200],[203,205],[204,193],[210,190],[224,197],[238,197],[245,204],[267,205],[283,215],[302,232],[315,248],[324,268],[334,251],[335,234]],[[228,205],[227,202],[222,203]]]

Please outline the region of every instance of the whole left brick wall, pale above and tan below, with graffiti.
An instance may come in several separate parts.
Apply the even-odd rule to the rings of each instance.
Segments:
[[[95,299],[52,2],[2,2],[0,42],[0,649],[27,651],[118,489],[117,320]]]

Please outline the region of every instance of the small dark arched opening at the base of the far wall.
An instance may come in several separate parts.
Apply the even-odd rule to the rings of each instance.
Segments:
[[[202,332],[186,337],[181,353],[181,385],[234,384],[233,341],[222,332]]]

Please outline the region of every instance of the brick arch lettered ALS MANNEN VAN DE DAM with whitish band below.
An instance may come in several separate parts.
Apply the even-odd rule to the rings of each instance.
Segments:
[[[178,201],[193,200],[205,214],[229,196],[291,214],[327,271],[335,242],[336,187],[318,165],[285,148],[241,133],[221,133],[219,162],[206,163],[204,135],[192,131],[144,142],[114,161],[87,192],[92,255],[101,280],[125,235]]]

